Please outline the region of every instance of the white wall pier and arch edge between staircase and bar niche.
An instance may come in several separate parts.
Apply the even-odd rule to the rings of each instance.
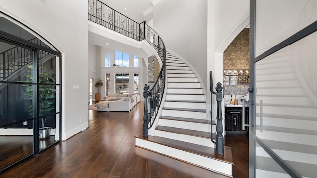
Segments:
[[[214,88],[218,82],[223,85],[223,52],[249,24],[249,6],[249,0],[208,1],[206,73],[208,98],[210,98],[209,71],[213,74],[213,90],[215,91]],[[213,98],[213,108],[216,108],[215,97]],[[208,105],[210,108],[210,101]],[[213,115],[215,116],[215,113]]]

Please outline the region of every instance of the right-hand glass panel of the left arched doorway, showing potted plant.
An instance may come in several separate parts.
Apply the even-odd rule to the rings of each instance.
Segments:
[[[59,141],[59,58],[39,50],[39,150]]]

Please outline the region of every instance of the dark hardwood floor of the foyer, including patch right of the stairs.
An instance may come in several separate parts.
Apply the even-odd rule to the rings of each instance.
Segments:
[[[227,178],[135,147],[144,102],[131,112],[88,110],[89,128],[0,174],[2,178]],[[247,136],[227,135],[233,177],[248,177]]]

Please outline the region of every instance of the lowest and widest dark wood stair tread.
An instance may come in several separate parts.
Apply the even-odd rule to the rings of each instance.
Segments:
[[[193,143],[187,143],[183,141],[173,140],[169,138],[163,138],[159,136],[148,136],[143,137],[142,134],[135,136],[135,138],[151,141],[164,146],[169,146],[182,151],[190,152],[193,154],[205,156],[211,159],[216,159],[222,162],[226,162],[233,165],[231,147],[224,146],[224,155],[219,155],[215,153],[214,148],[207,146],[201,146]]]

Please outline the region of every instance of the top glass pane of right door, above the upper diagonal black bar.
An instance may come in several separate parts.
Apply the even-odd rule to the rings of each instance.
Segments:
[[[256,57],[315,22],[316,8],[317,0],[256,0]]]

